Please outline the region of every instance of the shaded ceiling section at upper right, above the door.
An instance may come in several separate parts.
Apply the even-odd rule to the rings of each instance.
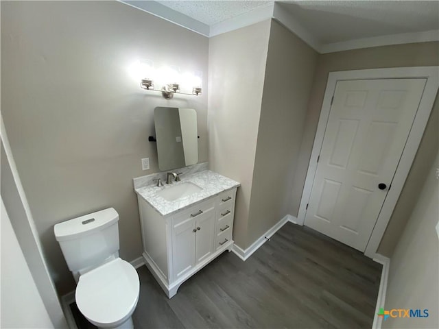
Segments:
[[[322,43],[439,29],[439,1],[279,1]]]

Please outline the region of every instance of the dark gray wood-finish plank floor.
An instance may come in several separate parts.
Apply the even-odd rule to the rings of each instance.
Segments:
[[[287,223],[246,262],[225,252],[171,300],[145,266],[137,271],[134,328],[371,328],[381,265]]]

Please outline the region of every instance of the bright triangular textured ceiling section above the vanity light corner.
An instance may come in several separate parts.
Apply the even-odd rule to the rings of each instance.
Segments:
[[[157,1],[207,25],[226,21],[232,17],[269,5],[274,1]]]

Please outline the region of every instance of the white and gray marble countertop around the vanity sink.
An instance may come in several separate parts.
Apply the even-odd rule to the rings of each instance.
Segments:
[[[175,201],[167,201],[163,197],[157,195],[158,191],[184,182],[191,182],[202,188],[202,191],[181,197]],[[162,216],[173,215],[174,213],[189,208],[194,204],[228,191],[231,188],[240,186],[239,182],[230,180],[219,173],[210,170],[198,171],[191,173],[191,175],[182,176],[180,182],[173,182],[171,185],[156,186],[156,184],[149,184],[147,186],[137,186],[134,191],[140,195],[146,202],[148,202],[154,209],[156,209]]]

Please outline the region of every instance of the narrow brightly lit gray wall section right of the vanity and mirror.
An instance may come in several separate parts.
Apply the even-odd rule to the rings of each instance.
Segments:
[[[209,166],[241,182],[233,239],[248,245],[259,115],[270,20],[209,39]]]

